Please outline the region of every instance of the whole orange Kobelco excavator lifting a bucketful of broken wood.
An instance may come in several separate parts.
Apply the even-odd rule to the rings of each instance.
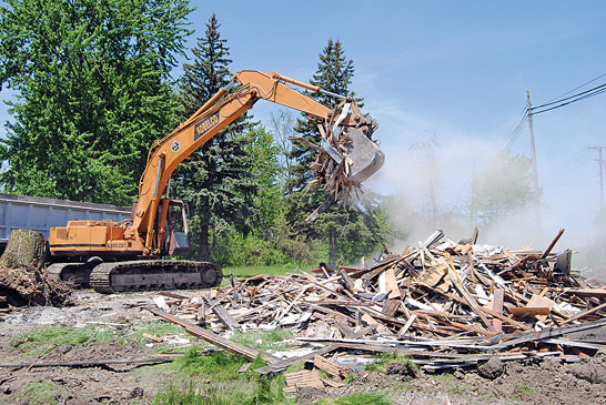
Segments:
[[[341,102],[330,109],[295,87]],[[319,153],[311,169],[316,174],[316,186],[326,188],[327,201],[345,198],[383,165],[383,151],[372,140],[376,121],[363,115],[351,97],[274,72],[243,70],[191,118],[153,143],[130,220],[74,220],[51,229],[49,276],[90,285],[100,293],[220,285],[223,273],[214,263],[163,259],[189,251],[185,204],[163,194],[184,159],[261,99],[302,111],[317,124],[320,145],[299,140]],[[320,212],[316,210],[309,220]]]

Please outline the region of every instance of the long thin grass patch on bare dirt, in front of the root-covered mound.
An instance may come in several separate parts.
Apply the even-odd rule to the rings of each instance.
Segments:
[[[81,328],[73,327],[47,327],[41,331],[24,333],[12,341],[12,346],[23,354],[38,355],[50,353],[54,347],[62,344],[74,346],[85,345],[92,342],[123,343],[124,338],[117,336],[110,330],[87,326]]]

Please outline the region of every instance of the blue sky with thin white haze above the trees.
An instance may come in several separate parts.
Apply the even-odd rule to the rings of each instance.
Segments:
[[[521,119],[526,90],[539,104],[606,73],[604,1],[192,1],[195,37],[216,12],[232,70],[307,81],[329,39],[354,61],[353,89],[380,122],[386,152],[368,186],[420,202],[410,145],[440,141],[438,205],[462,202],[474,168],[492,159]],[[175,70],[178,75],[180,70]],[[606,82],[606,77],[594,84]],[[10,97],[6,91],[2,99]],[[277,107],[259,102],[265,121]],[[606,94],[535,118],[544,231],[587,232],[598,209],[590,145],[606,144]],[[6,111],[0,119],[6,120]],[[529,155],[527,125],[513,152]],[[411,180],[416,179],[416,180]],[[418,201],[417,201],[418,200]]]

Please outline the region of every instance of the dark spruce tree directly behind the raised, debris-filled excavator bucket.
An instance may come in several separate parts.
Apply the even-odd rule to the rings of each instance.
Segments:
[[[350,84],[354,75],[354,65],[351,59],[345,57],[341,41],[329,40],[329,44],[320,54],[317,71],[310,82],[321,89],[341,95],[352,95]],[[316,101],[334,108],[341,100],[324,93],[311,94]],[[356,99],[358,105],[362,99]],[[309,141],[320,144],[321,134],[315,124],[307,123],[306,117],[299,120],[295,131]],[[372,239],[373,234],[380,232],[381,227],[368,221],[366,213],[350,204],[335,204],[312,224],[306,224],[306,214],[312,213],[325,199],[326,191],[320,189],[306,189],[307,182],[313,180],[310,164],[315,159],[315,151],[295,143],[290,156],[296,161],[291,168],[295,174],[286,184],[289,192],[289,206],[286,220],[295,239],[324,240],[329,245],[329,265],[335,266],[337,256],[343,262],[351,262],[352,257],[370,254],[377,247]],[[368,243],[366,243],[370,241]]]

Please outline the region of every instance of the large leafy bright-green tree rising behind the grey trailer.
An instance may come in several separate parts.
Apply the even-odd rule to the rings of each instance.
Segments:
[[[0,83],[9,103],[4,190],[130,204],[151,143],[173,126],[169,72],[186,0],[9,0]]]

